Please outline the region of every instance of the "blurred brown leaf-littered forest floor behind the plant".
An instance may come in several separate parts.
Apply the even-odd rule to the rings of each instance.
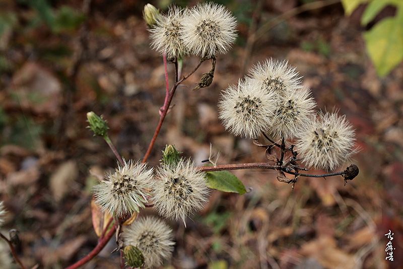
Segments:
[[[27,3],[0,3],[0,200],[9,211],[2,229],[19,230],[26,266],[62,268],[96,245],[89,207],[94,175],[116,167],[106,143],[86,128],[86,113],[104,115],[125,159],[143,158],[164,102],[164,68],[149,46],[145,1],[54,0],[36,9]],[[362,9],[346,18],[340,3],[281,22],[248,55],[253,20],[260,27],[302,4],[220,3],[237,17],[237,43],[218,56],[210,87],[191,91],[210,70],[206,62],[178,88],[149,165],[158,166],[165,144],[196,165],[209,157],[210,143],[221,153],[219,164],[265,162],[263,149],[224,130],[217,100],[238,82],[245,59],[249,69],[274,57],[296,66],[319,109],[346,114],[361,149],[353,160],[360,174],[346,186],[342,177],[300,178],[292,190],[271,170],[234,171],[251,191],[214,191],[186,229],[169,222],[176,246],[166,267],[403,268],[403,65],[377,78],[361,36]],[[186,58],[183,74],[198,60]],[[394,261],[385,260],[389,230]],[[111,241],[83,268],[117,268]],[[0,248],[7,249],[4,242]],[[17,268],[2,266],[6,259],[0,267]]]

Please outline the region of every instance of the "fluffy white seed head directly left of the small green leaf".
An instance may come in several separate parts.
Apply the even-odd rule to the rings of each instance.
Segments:
[[[203,209],[209,194],[205,173],[198,172],[191,160],[184,159],[176,164],[162,164],[152,189],[158,213],[183,223],[186,216]]]

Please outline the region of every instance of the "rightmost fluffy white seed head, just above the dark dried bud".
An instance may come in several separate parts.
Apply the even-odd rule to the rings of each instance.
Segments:
[[[299,134],[297,150],[310,167],[333,170],[350,159],[355,134],[346,116],[320,113]]]

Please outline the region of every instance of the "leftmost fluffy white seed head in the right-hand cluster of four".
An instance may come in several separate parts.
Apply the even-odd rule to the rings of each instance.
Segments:
[[[258,138],[270,125],[275,111],[274,93],[255,80],[239,81],[221,94],[219,118],[235,136]]]

